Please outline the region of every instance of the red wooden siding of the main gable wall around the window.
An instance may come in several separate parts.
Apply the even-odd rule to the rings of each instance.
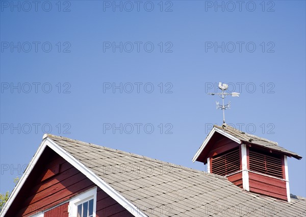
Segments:
[[[10,216],[30,216],[52,208],[71,197],[94,187],[95,184],[65,159],[46,147],[27,181],[24,182],[11,207]],[[97,188],[96,213],[99,216],[130,216],[130,212]],[[65,203],[66,204],[66,203]],[[66,205],[45,212],[45,216],[66,216]],[[63,215],[53,215],[59,212]]]

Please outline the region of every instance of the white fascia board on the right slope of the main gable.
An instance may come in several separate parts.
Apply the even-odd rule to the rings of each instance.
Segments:
[[[73,167],[75,167],[81,173],[83,173],[93,183],[95,183],[98,187],[100,187],[106,194],[108,194],[115,201],[117,201],[121,206],[123,206],[127,211],[131,212],[134,216],[147,216],[139,208],[137,208],[134,204],[132,204],[130,201],[128,201],[126,198],[120,195],[114,188],[112,188],[109,184],[107,184],[103,179],[101,179],[95,173],[89,170],[78,159],[74,158],[71,154],[65,151],[62,147],[57,145],[53,140],[46,138],[45,141],[46,141],[45,143],[47,146],[49,146],[52,150],[54,150],[61,157],[67,160]]]

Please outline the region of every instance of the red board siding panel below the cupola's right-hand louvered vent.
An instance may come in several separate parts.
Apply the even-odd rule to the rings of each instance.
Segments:
[[[250,192],[287,200],[286,181],[256,173],[249,173]]]

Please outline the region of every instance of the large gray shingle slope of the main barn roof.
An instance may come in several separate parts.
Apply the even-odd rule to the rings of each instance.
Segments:
[[[49,135],[148,216],[305,216],[290,203],[249,193],[227,178],[107,147]]]

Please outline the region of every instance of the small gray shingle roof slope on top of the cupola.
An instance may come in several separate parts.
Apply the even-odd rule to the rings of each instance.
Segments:
[[[289,150],[287,150],[283,147],[278,146],[278,144],[276,142],[267,140],[265,138],[257,137],[256,135],[248,134],[246,132],[243,132],[243,131],[240,131],[236,128],[233,128],[230,125],[226,125],[226,124],[224,126],[214,125],[214,127],[218,128],[218,129],[221,129],[221,130],[224,130],[225,132],[233,135],[234,137],[238,138],[241,141],[244,141],[244,142],[247,142],[247,143],[250,143],[250,144],[254,144],[254,145],[257,145],[257,146],[262,146],[262,147],[265,147],[265,148],[269,148],[269,149],[272,149],[272,150],[275,150],[275,151],[279,151],[279,152],[282,152],[286,155],[293,156],[296,159],[301,159],[302,158],[297,153],[294,153],[294,152],[289,151]]]

